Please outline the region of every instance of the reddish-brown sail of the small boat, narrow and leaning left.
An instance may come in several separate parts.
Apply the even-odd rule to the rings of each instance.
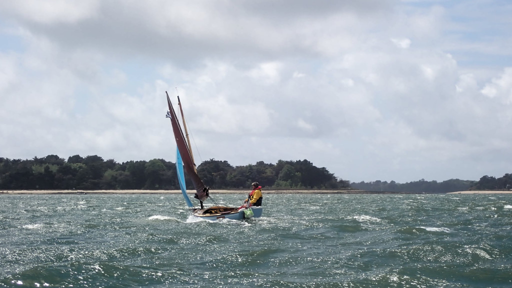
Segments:
[[[167,94],[167,92],[165,92]],[[178,150],[180,151],[181,158],[183,160],[183,168],[187,173],[188,177],[192,180],[194,184],[194,189],[196,189],[196,195],[194,196],[196,199],[201,201],[206,200],[208,198],[208,188],[204,185],[203,180],[199,177],[194,168],[194,160],[192,159],[192,155],[188,150],[188,146],[181,130],[181,126],[178,122],[178,117],[176,116],[176,112],[174,111],[173,104],[170,102],[169,94],[167,94],[167,104],[169,105],[169,113],[170,113],[170,122],[173,126],[174,138],[176,140],[176,145],[178,146]]]

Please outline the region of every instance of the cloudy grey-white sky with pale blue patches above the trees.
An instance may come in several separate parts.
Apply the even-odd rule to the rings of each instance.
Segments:
[[[0,157],[512,173],[508,0],[0,0]]]

